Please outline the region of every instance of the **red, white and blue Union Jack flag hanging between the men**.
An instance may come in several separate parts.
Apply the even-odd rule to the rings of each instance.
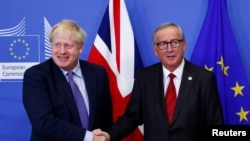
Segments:
[[[88,61],[108,72],[114,120],[126,108],[136,69],[143,67],[124,0],[110,0],[90,51]],[[140,127],[123,141],[142,141]]]

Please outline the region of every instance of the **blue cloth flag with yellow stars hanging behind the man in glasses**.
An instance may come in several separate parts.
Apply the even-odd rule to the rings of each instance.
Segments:
[[[216,74],[226,124],[249,124],[249,82],[228,18],[226,0],[209,0],[190,61]]]

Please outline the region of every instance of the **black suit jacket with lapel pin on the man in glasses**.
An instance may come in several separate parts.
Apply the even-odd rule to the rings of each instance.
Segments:
[[[162,64],[137,73],[124,116],[107,130],[111,141],[144,124],[145,141],[202,141],[207,126],[224,124],[214,74],[185,60],[182,81],[169,126],[165,112]]]

